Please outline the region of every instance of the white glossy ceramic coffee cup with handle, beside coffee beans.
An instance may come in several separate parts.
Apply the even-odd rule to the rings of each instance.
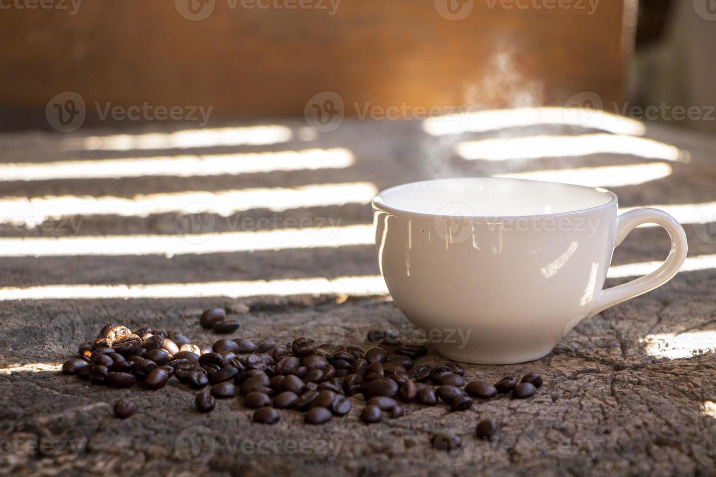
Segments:
[[[582,319],[679,271],[684,229],[666,212],[617,215],[613,192],[518,179],[430,180],[373,200],[380,270],[396,305],[445,358],[509,364],[547,355]],[[658,270],[602,290],[638,225],[669,232]]]

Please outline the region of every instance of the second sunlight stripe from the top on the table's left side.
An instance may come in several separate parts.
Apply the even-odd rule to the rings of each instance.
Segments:
[[[315,169],[345,169],[354,164],[348,149],[242,154],[127,157],[60,162],[0,164],[0,181],[107,179],[120,177],[200,177]]]

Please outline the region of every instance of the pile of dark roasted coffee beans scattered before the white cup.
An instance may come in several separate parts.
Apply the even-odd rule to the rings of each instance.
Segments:
[[[201,315],[204,328],[220,333],[230,328],[217,328],[220,323],[227,323],[221,309]],[[237,328],[238,322],[233,329]],[[175,378],[198,390],[194,400],[198,412],[211,412],[218,399],[240,396],[244,406],[256,409],[253,421],[265,424],[279,422],[279,409],[304,412],[307,424],[326,423],[349,413],[349,398],[359,394],[366,401],[362,421],[379,423],[385,417],[405,415],[404,403],[444,403],[450,412],[463,411],[475,399],[485,401],[498,394],[529,398],[542,385],[536,373],[521,380],[507,376],[494,384],[465,383],[465,370],[459,363],[416,365],[415,360],[427,354],[425,346],[401,343],[390,330],[372,330],[368,337],[374,345],[367,350],[357,345],[319,344],[309,336],[285,345],[225,338],[202,348],[182,333],[148,326],[132,331],[110,323],[96,340],[79,345],[78,357],[67,360],[62,371],[97,385],[130,388],[136,384],[147,390],[161,389]],[[134,411],[130,401],[115,404],[117,417],[126,418]],[[496,429],[494,421],[482,421],[477,433],[492,438]]]

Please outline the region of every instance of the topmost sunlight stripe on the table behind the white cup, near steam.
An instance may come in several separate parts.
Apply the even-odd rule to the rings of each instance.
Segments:
[[[488,109],[456,112],[427,119],[422,127],[428,134],[442,136],[461,132],[488,132],[508,127],[527,127],[555,124],[579,130],[599,129],[614,134],[641,136],[647,132],[644,124],[601,109],[535,107],[516,109]]]

